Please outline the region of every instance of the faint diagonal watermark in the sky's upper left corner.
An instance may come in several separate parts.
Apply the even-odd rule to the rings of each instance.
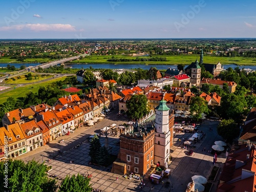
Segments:
[[[20,0],[20,5],[16,9],[11,9],[11,16],[4,17],[6,25],[9,27],[11,23],[15,23],[15,20],[19,18],[20,15],[22,15],[26,9],[30,7],[30,3],[34,3],[35,0]]]

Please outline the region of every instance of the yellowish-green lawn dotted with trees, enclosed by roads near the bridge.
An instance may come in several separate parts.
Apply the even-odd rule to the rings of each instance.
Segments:
[[[16,77],[13,77],[13,78],[9,78],[8,80],[5,80],[5,83],[7,84],[22,84],[22,83],[32,83],[32,82],[37,82],[37,81],[40,81],[40,80],[45,80],[45,79],[49,79],[51,77],[53,77],[53,75],[48,75],[48,76],[41,76],[41,75],[38,75],[36,73],[31,73],[32,74],[32,77],[33,79],[32,80],[27,80],[27,78],[25,77],[25,75],[20,75],[20,79]],[[35,76],[38,76],[38,79],[34,79]],[[15,80],[13,80],[15,79]]]

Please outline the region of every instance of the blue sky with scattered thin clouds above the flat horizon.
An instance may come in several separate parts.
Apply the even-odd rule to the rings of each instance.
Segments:
[[[255,38],[255,10],[255,0],[13,0],[0,38]]]

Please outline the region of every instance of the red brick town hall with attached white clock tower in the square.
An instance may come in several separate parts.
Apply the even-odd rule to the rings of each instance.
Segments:
[[[164,166],[169,162],[174,113],[170,112],[165,100],[159,102],[155,113],[155,127],[138,127],[133,133],[119,136],[120,152],[113,163],[113,173],[144,175],[154,164]]]

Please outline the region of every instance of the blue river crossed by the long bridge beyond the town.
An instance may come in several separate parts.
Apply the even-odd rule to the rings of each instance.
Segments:
[[[37,66],[40,65],[40,63],[0,63],[0,67],[7,67],[7,65],[10,66],[15,66],[15,68],[20,68],[20,66]],[[188,65],[185,65],[185,68]],[[104,69],[135,69],[135,68],[141,68],[141,69],[150,69],[151,67],[155,67],[158,70],[166,70],[168,68],[177,68],[177,65],[136,65],[136,64],[129,64],[129,65],[125,65],[125,64],[119,64],[119,65],[114,65],[114,64],[76,64],[76,63],[72,63],[72,64],[66,64],[66,67],[72,67],[73,69],[88,69],[90,67],[92,67],[93,69],[100,69],[100,68],[104,68]],[[256,70],[256,66],[237,66],[237,65],[233,65],[233,64],[229,64],[229,65],[224,65],[224,69],[228,69],[228,68],[236,68],[239,67],[240,69],[252,69],[252,70]]]

